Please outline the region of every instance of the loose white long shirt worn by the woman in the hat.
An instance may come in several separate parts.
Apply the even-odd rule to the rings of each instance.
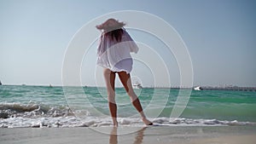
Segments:
[[[137,53],[137,51],[137,44],[125,30],[120,42],[117,42],[115,39],[112,40],[111,37],[103,34],[97,49],[97,65],[108,68],[113,72],[125,71],[130,73],[132,67],[130,53]],[[127,62],[127,60],[131,60],[131,62]]]

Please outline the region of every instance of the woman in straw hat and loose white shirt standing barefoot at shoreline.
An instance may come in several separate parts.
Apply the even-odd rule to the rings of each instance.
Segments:
[[[137,53],[138,48],[130,35],[125,32],[123,26],[125,26],[125,23],[114,19],[108,19],[102,25],[96,26],[98,30],[102,31],[101,41],[97,49],[97,65],[104,68],[103,75],[108,90],[108,107],[113,118],[113,125],[118,126],[114,92],[116,73],[118,73],[121,83],[130,96],[133,106],[140,113],[143,123],[152,125],[146,118],[143,107],[132,89],[130,76],[132,58],[130,52]]]

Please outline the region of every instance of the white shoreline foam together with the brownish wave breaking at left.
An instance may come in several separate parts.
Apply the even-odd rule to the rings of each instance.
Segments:
[[[74,113],[84,114],[79,118]],[[44,127],[102,127],[111,126],[110,117],[95,117],[88,112],[72,112],[69,107],[49,107],[38,104],[23,105],[20,103],[0,103],[1,128],[44,128]],[[237,120],[218,119],[192,119],[192,118],[149,118],[155,125],[256,125],[253,122],[240,122]],[[121,126],[143,126],[140,118],[118,118]]]

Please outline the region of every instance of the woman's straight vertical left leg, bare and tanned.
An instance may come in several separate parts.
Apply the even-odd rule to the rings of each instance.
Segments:
[[[104,78],[107,86],[108,91],[108,107],[113,119],[113,125],[118,126],[117,122],[117,107],[115,103],[115,92],[114,92],[114,80],[115,80],[115,73],[110,71],[109,69],[104,69]]]

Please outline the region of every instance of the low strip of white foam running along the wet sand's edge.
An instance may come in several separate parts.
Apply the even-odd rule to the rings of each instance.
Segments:
[[[166,120],[169,119],[169,120]],[[219,126],[219,125],[256,125],[251,122],[220,121],[216,119],[189,119],[189,118],[149,118],[158,126]],[[119,126],[143,126],[140,118],[118,118]],[[112,126],[111,118],[84,119],[74,116],[55,118],[4,118],[0,119],[1,128],[58,128],[58,127],[102,127]]]

